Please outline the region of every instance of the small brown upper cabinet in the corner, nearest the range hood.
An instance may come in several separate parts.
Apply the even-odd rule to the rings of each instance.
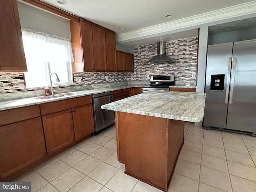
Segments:
[[[117,50],[116,55],[118,72],[134,72],[133,54]]]

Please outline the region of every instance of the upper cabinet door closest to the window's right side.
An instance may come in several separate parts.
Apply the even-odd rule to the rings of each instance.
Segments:
[[[84,71],[95,71],[94,50],[92,41],[92,22],[80,18],[82,51],[84,57]]]

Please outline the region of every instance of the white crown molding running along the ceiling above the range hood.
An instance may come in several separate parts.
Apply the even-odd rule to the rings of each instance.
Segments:
[[[138,38],[146,38],[149,36],[157,36],[160,33],[166,33],[188,27],[200,27],[202,24],[207,24],[210,22],[216,22],[224,19],[234,18],[238,16],[244,16],[256,13],[256,0],[228,8],[223,8],[215,10],[212,12],[207,12],[204,14],[199,14],[196,16],[191,16],[187,18],[182,18],[179,20],[174,20],[171,22],[166,22],[163,24],[158,24],[139,30],[134,30],[126,33],[121,33],[116,36],[117,42],[127,42],[136,40]]]

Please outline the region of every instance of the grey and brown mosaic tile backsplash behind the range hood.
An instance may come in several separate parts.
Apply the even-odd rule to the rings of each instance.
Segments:
[[[198,37],[166,41],[166,54],[173,64],[144,65],[157,55],[157,43],[134,47],[134,73],[128,73],[128,81],[145,81],[147,75],[175,74],[175,80],[195,81]]]

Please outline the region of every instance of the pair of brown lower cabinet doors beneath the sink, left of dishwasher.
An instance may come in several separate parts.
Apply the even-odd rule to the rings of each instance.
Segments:
[[[94,132],[92,104],[42,116],[47,154]]]

